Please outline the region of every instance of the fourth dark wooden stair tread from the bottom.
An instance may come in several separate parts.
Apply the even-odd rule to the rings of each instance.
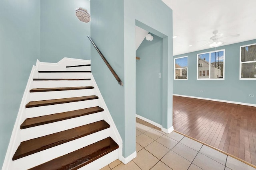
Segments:
[[[74,98],[32,101],[26,104],[26,108],[48,106],[48,105],[54,105],[54,104],[64,104],[64,103],[70,103],[70,102],[79,102],[79,101],[93,100],[93,99],[98,99],[98,96],[92,95],[92,96],[82,96],[82,97],[74,97]]]

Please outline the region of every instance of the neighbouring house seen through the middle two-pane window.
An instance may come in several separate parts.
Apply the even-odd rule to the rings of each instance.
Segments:
[[[198,61],[198,78],[220,78],[221,75],[221,70],[218,68],[218,66],[214,66],[211,64],[211,70],[209,70],[209,62],[207,62],[204,59],[199,59]]]

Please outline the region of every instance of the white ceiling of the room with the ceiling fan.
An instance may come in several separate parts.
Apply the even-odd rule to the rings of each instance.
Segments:
[[[210,41],[214,30],[223,37],[240,34],[221,38],[223,45],[256,39],[256,0],[162,1],[173,11],[173,55],[210,48],[202,40]]]

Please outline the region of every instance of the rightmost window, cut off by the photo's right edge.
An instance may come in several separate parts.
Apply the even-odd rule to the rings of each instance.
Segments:
[[[240,47],[240,80],[256,80],[256,44]]]

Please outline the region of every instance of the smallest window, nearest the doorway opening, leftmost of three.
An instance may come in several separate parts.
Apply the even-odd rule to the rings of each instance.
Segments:
[[[174,59],[174,80],[188,80],[188,56]]]

